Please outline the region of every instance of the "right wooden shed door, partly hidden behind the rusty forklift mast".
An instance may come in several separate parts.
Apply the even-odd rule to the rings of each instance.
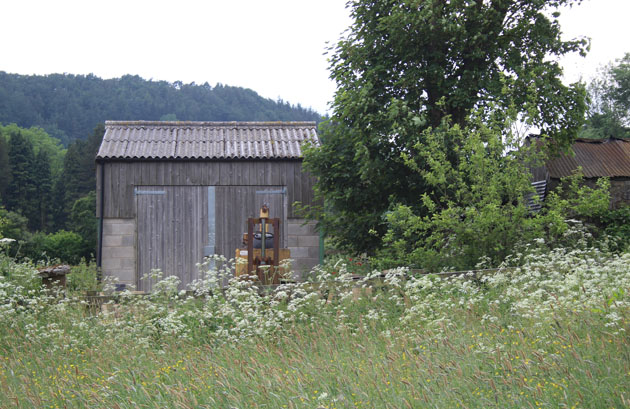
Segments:
[[[216,187],[216,252],[234,258],[234,251],[243,247],[247,219],[259,217],[263,203],[270,217],[280,219],[280,246],[287,247],[287,191],[284,186],[217,186]]]

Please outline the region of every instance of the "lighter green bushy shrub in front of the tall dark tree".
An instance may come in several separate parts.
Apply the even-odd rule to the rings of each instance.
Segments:
[[[420,207],[399,204],[385,215],[388,231],[377,253],[382,267],[470,269],[481,260],[497,266],[536,240],[570,246],[567,220],[593,223],[608,208],[609,181],[600,179],[591,188],[575,174],[549,194],[542,211],[530,212],[527,164],[542,158],[506,139],[501,128],[443,125],[426,130],[423,142],[404,155],[428,188]],[[463,143],[453,151],[449,140]]]

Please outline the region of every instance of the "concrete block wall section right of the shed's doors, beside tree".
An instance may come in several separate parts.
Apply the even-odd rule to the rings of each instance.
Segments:
[[[298,279],[319,264],[319,233],[315,230],[315,222],[305,222],[304,219],[288,220],[288,248]]]

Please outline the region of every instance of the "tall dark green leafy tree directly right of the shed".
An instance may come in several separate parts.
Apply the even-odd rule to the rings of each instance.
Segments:
[[[354,24],[331,50],[337,83],[322,146],[306,168],[326,200],[325,231],[342,247],[370,251],[396,204],[423,212],[431,191],[412,172],[426,129],[445,121],[464,128],[469,116],[519,118],[559,145],[583,123],[584,87],[565,86],[555,57],[585,53],[583,39],[563,41],[552,11],[580,0],[355,0]],[[458,133],[445,133],[445,137]],[[449,161],[463,141],[445,140]],[[431,158],[418,165],[429,165]]]

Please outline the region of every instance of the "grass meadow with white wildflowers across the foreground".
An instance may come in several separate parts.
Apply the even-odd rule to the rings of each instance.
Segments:
[[[353,282],[338,264],[264,295],[210,272],[196,296],[167,279],[94,313],[13,265],[0,407],[623,408],[629,266],[557,250],[484,277]]]

